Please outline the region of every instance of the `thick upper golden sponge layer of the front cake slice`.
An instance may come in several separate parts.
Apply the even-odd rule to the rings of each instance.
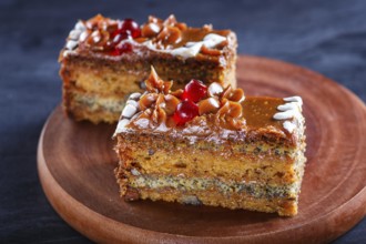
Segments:
[[[124,167],[136,167],[146,174],[169,173],[186,176],[212,175],[234,181],[256,181],[263,183],[289,184],[299,181],[305,162],[303,151],[278,148],[260,151],[244,151],[246,143],[213,145],[196,140],[194,145],[182,143],[169,136],[153,135],[121,138],[125,144],[118,145]],[[190,152],[189,154],[186,152]]]

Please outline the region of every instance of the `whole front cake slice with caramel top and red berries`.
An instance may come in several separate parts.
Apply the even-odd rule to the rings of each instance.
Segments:
[[[299,96],[245,98],[192,80],[184,90],[152,71],[114,133],[121,196],[297,213],[305,166]]]

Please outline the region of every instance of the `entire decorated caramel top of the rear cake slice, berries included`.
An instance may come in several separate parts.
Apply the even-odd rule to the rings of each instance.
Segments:
[[[60,59],[80,54],[118,60],[131,52],[220,59],[227,49],[235,48],[236,37],[232,31],[213,30],[210,24],[187,27],[174,16],[166,20],[149,17],[146,23],[139,26],[132,19],[112,20],[98,14],[75,24]]]

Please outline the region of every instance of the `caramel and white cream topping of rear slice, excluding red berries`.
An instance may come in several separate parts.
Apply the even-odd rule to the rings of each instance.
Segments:
[[[81,51],[120,55],[130,51],[130,48],[121,49],[125,43],[184,59],[199,53],[220,55],[222,49],[227,45],[230,41],[227,37],[231,33],[228,30],[212,30],[211,26],[190,28],[183,22],[177,22],[174,16],[170,16],[166,20],[149,17],[149,21],[141,27],[141,34],[136,38],[125,37],[119,40],[118,45],[122,51],[114,51],[116,44],[113,42],[116,38],[113,33],[121,21],[100,14],[88,21],[79,21],[69,34],[63,55],[72,53],[78,47]]]

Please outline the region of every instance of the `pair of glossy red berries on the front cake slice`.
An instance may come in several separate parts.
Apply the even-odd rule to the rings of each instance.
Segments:
[[[183,125],[199,115],[196,104],[207,94],[207,87],[199,80],[191,80],[184,88],[182,102],[177,104],[174,112],[174,121],[177,125]]]

